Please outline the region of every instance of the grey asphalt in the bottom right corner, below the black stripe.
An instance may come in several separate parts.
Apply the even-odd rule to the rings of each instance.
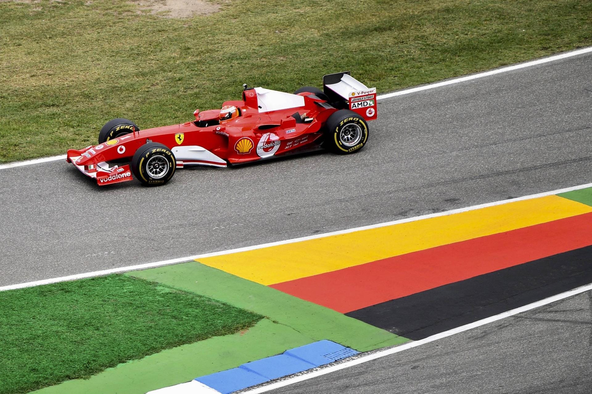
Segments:
[[[592,292],[269,391],[590,394]]]

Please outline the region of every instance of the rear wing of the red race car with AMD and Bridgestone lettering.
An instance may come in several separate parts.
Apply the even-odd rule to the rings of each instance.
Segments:
[[[323,77],[323,92],[331,102],[345,102],[366,121],[377,117],[376,88],[368,87],[350,76],[349,71]]]

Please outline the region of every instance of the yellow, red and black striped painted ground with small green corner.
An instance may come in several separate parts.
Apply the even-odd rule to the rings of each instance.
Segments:
[[[592,282],[592,188],[200,259],[413,340]]]

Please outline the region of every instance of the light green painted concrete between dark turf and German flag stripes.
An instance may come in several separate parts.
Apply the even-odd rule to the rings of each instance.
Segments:
[[[90,379],[69,380],[35,393],[144,394],[318,340],[329,339],[359,351],[408,341],[339,312],[198,262],[125,275],[195,292],[266,318],[241,333],[163,350],[107,369]]]

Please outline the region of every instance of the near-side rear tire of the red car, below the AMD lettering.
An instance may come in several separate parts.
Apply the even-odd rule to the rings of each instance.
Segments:
[[[324,147],[338,154],[362,149],[368,141],[368,123],[349,109],[340,109],[329,116],[325,129]]]

